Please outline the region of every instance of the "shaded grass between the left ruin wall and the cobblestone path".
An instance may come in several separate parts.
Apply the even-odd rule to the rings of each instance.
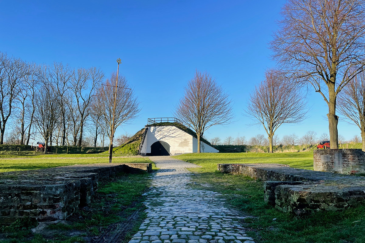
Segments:
[[[100,235],[114,223],[127,223],[129,230],[123,242],[128,242],[138,231],[138,227],[145,218],[142,204],[145,199],[141,195],[150,185],[150,175],[125,174],[112,178],[111,181],[102,181],[96,196],[93,197],[89,208],[82,209],[69,219],[68,223],[51,224],[49,228],[56,233],[44,238],[41,235],[32,235],[29,231],[34,225],[28,222],[17,222],[12,226],[0,228],[0,233],[8,239],[0,243],[83,243],[85,240],[68,236],[69,231],[80,231],[84,236]],[[130,217],[138,211],[137,216]]]

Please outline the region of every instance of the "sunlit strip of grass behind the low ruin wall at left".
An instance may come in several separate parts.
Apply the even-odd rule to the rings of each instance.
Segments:
[[[76,165],[76,164],[95,164],[95,163],[107,163],[109,162],[108,156],[99,158],[91,155],[97,154],[68,154],[69,158],[62,154],[60,156],[52,157],[35,157],[35,158],[12,158],[12,159],[1,159],[0,160],[0,172],[8,171],[24,171],[32,169],[45,169],[65,165]],[[74,158],[77,157],[77,158]],[[80,156],[80,157],[79,157]],[[58,158],[57,158],[58,157]],[[62,157],[62,158],[59,158]],[[96,156],[98,157],[98,156]],[[149,163],[151,162],[148,158],[143,157],[129,157],[119,158],[113,157],[113,163],[127,163],[127,162],[138,162],[138,163]]]

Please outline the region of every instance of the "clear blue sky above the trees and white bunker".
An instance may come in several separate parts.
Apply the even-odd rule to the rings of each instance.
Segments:
[[[208,71],[235,102],[235,122],[207,131],[208,138],[265,134],[242,116],[250,90],[270,60],[268,42],[284,0],[269,1],[2,1],[0,51],[27,61],[120,71],[134,86],[140,117],[117,134],[134,134],[150,117],[171,117],[195,69]],[[308,130],[328,133],[326,103],[312,91],[300,125],[282,126],[281,138]],[[339,122],[350,139],[360,129]]]

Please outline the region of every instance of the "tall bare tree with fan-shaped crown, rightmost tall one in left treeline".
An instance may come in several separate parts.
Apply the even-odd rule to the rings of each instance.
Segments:
[[[70,89],[72,89],[74,93],[77,110],[80,114],[80,136],[78,139],[78,146],[81,146],[85,121],[90,114],[91,103],[96,94],[95,91],[98,89],[103,79],[103,71],[96,67],[88,69],[77,68],[72,76]]]

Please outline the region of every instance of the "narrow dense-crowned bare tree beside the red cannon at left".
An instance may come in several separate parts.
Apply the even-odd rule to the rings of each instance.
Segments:
[[[51,134],[60,122],[62,114],[61,107],[53,96],[50,87],[46,86],[37,92],[35,105],[36,112],[34,113],[34,122],[38,132],[45,140],[45,153],[47,153]]]

